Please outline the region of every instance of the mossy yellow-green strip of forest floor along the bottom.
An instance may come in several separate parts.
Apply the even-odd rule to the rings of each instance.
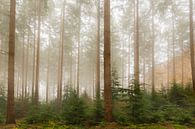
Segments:
[[[195,129],[195,126],[186,126],[178,124],[140,124],[140,125],[119,125],[117,123],[101,124],[92,127],[79,127],[70,125],[57,125],[54,123],[36,124],[36,125],[0,125],[0,129]]]

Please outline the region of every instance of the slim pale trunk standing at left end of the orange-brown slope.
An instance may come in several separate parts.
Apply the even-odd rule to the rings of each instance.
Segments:
[[[155,35],[154,35],[154,1],[151,0],[152,6],[152,94],[155,92]]]

